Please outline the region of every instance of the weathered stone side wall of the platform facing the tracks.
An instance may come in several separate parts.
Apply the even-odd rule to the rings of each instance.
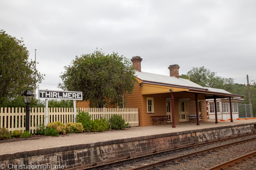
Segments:
[[[63,165],[66,169],[93,162],[101,162],[108,159],[121,158],[143,152],[161,150],[168,147],[186,145],[193,142],[206,141],[250,132],[255,132],[255,126],[253,123],[148,135],[127,139],[115,139],[111,141],[0,155],[0,164],[4,163],[6,169],[8,164]]]

